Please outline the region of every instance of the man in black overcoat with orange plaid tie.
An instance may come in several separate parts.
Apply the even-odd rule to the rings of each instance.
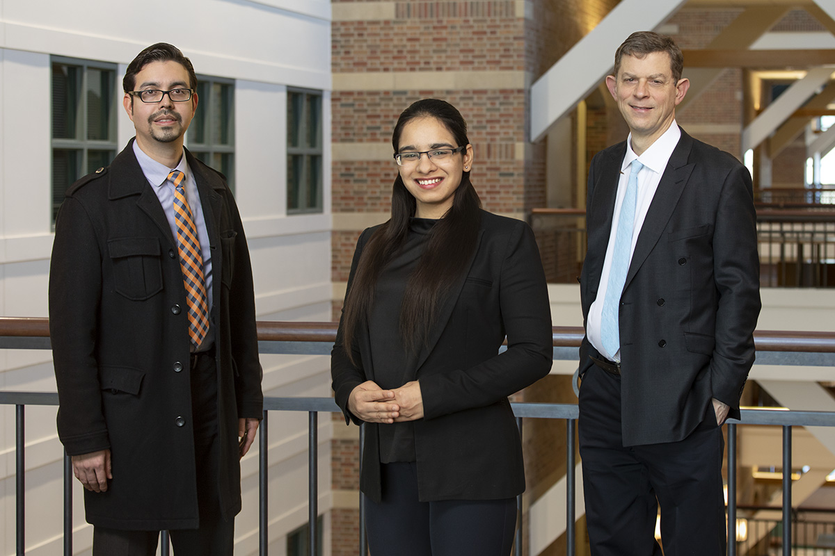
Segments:
[[[161,529],[178,556],[230,555],[263,403],[244,230],[223,175],[183,147],[189,59],[154,44],[123,86],[136,137],[55,224],[58,435],[96,556],[154,554]]]

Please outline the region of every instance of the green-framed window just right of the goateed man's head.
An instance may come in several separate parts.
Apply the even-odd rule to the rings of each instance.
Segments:
[[[197,99],[195,118],[187,134],[189,150],[222,172],[235,191],[235,82],[198,77]]]

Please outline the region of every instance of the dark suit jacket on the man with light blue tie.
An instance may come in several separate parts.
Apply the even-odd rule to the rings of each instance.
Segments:
[[[583,318],[597,297],[626,143],[589,173]],[[757,220],[747,169],[681,132],[650,204],[620,298],[621,418],[626,445],[674,442],[711,398],[731,406],[754,362],[760,312]],[[599,353],[584,338],[580,376]]]

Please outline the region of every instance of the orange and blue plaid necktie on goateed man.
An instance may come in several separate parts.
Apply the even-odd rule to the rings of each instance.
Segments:
[[[185,199],[185,173],[171,170],[168,178],[174,183],[174,215],[177,222],[177,249],[185,285],[185,303],[189,308],[189,336],[195,348],[209,333],[209,303],[203,281],[203,254],[197,227]]]

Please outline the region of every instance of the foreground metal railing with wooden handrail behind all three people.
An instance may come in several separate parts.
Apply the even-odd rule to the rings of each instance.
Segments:
[[[327,355],[331,352],[331,345],[336,338],[337,323],[258,323],[258,338],[260,353]],[[6,318],[0,317],[0,349],[48,349],[49,348],[48,321],[45,318]],[[554,359],[573,360],[577,357],[577,348],[583,338],[582,328],[554,327],[553,344]],[[755,333],[757,343],[757,363],[772,365],[798,366],[830,366],[835,367],[835,333],[815,332],[774,332],[758,331]],[[25,406],[27,405],[57,405],[57,393],[39,392],[0,392],[0,404],[12,404],[16,408],[16,508],[17,508],[17,553],[25,553],[24,539],[24,508],[25,508]],[[571,403],[513,403],[519,427],[525,418],[559,418],[566,420],[566,523],[565,543],[566,553],[574,555],[574,498],[575,498],[575,429],[578,418],[576,404]],[[340,412],[333,398],[265,398],[264,419],[259,433],[259,546],[260,554],[267,553],[267,450],[268,450],[268,417],[271,411],[306,411],[309,416],[309,448],[308,448],[308,501],[309,501],[309,547],[310,553],[316,553],[317,520],[318,517],[318,488],[317,488],[317,423],[318,413]],[[728,492],[736,493],[736,427],[738,424],[761,424],[782,427],[783,469],[792,468],[792,427],[797,426],[829,426],[835,427],[835,413],[813,411],[770,411],[767,409],[747,409],[742,411],[741,421],[729,419],[727,422],[728,439]],[[360,443],[364,440],[361,432]],[[73,473],[70,459],[64,457],[64,554],[71,555],[73,535],[72,515],[72,482]],[[791,506],[791,476],[784,473],[783,503],[782,503],[782,554],[789,556],[792,552],[792,506]],[[517,525],[514,553],[522,553],[521,531],[521,495],[519,496],[519,522]],[[736,523],[736,497],[728,496],[728,523]],[[364,515],[362,504],[360,509],[360,553],[367,553],[367,542],[364,533]],[[731,528],[728,538],[734,537],[735,525]],[[728,543],[728,556],[736,556],[736,543]],[[163,537],[163,554],[168,554],[168,539]]]

